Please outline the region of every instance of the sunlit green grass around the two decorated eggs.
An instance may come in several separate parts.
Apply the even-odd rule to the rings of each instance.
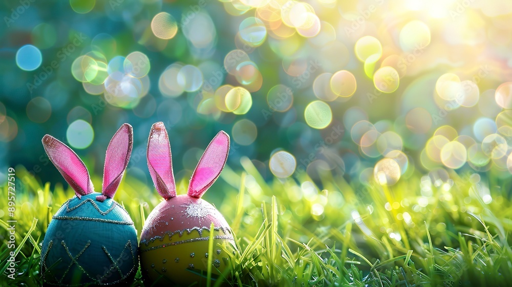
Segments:
[[[466,173],[452,171],[447,182],[432,183],[432,177],[414,172],[392,187],[349,185],[343,177],[322,174],[320,190],[305,174],[266,182],[247,158],[242,166],[239,172],[226,168],[204,196],[224,214],[240,246],[225,277],[209,286],[512,282],[512,209],[508,195],[501,194],[510,182],[492,172],[481,174],[476,183],[478,177],[470,180]],[[15,280],[8,280],[5,273],[0,279],[4,284],[39,286],[39,242],[52,214],[73,191],[53,182],[50,189],[50,183],[41,183],[23,167],[16,167],[16,177],[17,274]],[[94,177],[93,182],[101,186],[101,178]],[[187,183],[178,182],[178,193]],[[489,189],[490,202],[482,197]],[[0,193],[0,205],[6,207],[7,186]],[[130,213],[140,234],[160,197],[152,187],[126,176],[115,199]],[[0,220],[2,272],[11,251],[5,239],[6,218]],[[133,286],[142,285],[139,272]]]

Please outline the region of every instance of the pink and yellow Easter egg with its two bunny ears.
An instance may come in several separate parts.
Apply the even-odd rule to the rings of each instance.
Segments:
[[[237,249],[229,224],[201,196],[219,177],[229,152],[229,136],[219,132],[210,142],[190,179],[188,193],[176,195],[167,132],[153,125],[147,144],[147,164],[158,193],[165,199],[147,217],[139,251],[144,280],[154,285],[205,285],[208,259],[212,278],[228,267]],[[211,224],[213,223],[213,229]],[[208,240],[213,237],[213,252]]]

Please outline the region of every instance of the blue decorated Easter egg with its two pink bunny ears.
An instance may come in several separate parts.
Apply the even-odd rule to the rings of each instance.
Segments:
[[[94,192],[80,158],[50,135],[45,150],[76,196],[53,215],[41,249],[40,269],[48,286],[131,283],[139,258],[137,232],[130,215],[113,197],[130,160],[132,127],[124,124],[106,151],[102,193]]]

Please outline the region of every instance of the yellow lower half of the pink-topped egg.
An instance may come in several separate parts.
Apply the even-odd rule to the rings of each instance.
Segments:
[[[217,278],[230,264],[235,243],[231,235],[214,230],[213,252],[208,252],[210,232],[184,231],[172,236],[140,243],[141,272],[145,280],[156,285],[188,286],[194,282],[206,284],[208,257],[211,256],[212,278]],[[147,243],[147,245],[146,245]],[[232,254],[231,254],[232,255]],[[203,274],[204,276],[198,275]]]

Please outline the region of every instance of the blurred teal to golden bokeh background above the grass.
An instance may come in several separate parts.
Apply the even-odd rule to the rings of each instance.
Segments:
[[[512,2],[2,1],[0,185],[9,166],[63,181],[51,134],[101,174],[123,122],[127,176],[151,186],[163,121],[177,180],[210,139],[263,178],[392,185],[415,172],[512,170]],[[49,168],[50,167],[50,168]],[[482,191],[484,201],[492,200]]]

